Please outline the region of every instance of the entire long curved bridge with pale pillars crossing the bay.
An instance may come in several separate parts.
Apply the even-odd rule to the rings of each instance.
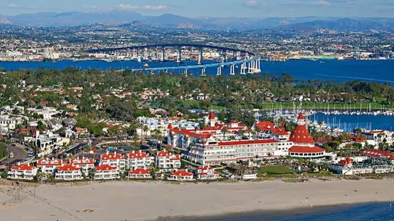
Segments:
[[[260,61],[261,57],[256,57],[254,52],[250,52],[247,50],[239,50],[235,48],[227,48],[222,46],[209,46],[209,45],[200,45],[200,44],[154,44],[154,45],[146,45],[146,46],[130,46],[123,48],[100,48],[100,49],[91,49],[86,52],[91,54],[104,54],[104,55],[113,55],[113,56],[129,56],[133,58],[137,58],[138,61],[142,61],[143,59],[150,59],[150,48],[161,49],[161,61],[166,60],[165,50],[166,48],[174,48],[176,49],[176,62],[180,63],[182,61],[182,48],[197,48],[198,49],[198,62],[197,65],[193,66],[173,66],[173,67],[162,67],[162,68],[140,68],[133,70],[144,70],[149,72],[168,72],[174,70],[180,70],[185,75],[187,75],[187,71],[191,69],[201,69],[201,75],[206,75],[207,68],[217,68],[216,75],[222,74],[222,69],[224,67],[229,67],[230,73],[229,75],[235,75],[236,68],[239,68],[240,73],[245,75],[246,73],[260,73]],[[215,64],[203,64],[203,50],[204,48],[218,50],[221,55],[222,62]],[[140,55],[140,51],[142,50],[142,56]],[[232,52],[227,56],[228,52]],[[238,70],[237,70],[238,71]]]

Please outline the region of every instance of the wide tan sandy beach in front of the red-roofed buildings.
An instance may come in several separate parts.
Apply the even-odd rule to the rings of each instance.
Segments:
[[[37,187],[36,197],[0,186],[1,220],[156,220],[362,202],[393,202],[393,180],[305,183],[238,182],[171,184],[106,182]]]

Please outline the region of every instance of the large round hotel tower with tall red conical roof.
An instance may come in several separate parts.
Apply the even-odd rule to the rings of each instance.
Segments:
[[[294,146],[289,149],[289,154],[292,157],[324,157],[324,149],[315,146],[315,141],[306,128],[305,117],[303,117],[302,113],[299,113],[297,126],[290,135],[290,141],[294,144]]]

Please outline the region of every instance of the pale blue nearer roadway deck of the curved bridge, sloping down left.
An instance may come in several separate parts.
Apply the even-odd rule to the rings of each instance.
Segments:
[[[201,68],[217,68],[219,66],[232,66],[238,64],[245,64],[252,61],[259,61],[260,57],[254,57],[251,59],[241,60],[241,61],[229,61],[225,63],[215,63],[215,64],[200,64],[200,65],[192,65],[192,66],[173,66],[173,67],[162,67],[162,68],[140,68],[140,69],[133,69],[133,70],[150,70],[151,72],[160,72],[166,70],[189,70],[189,69],[201,69]]]

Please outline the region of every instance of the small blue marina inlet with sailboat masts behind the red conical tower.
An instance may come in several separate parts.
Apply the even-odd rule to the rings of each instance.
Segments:
[[[310,116],[311,121],[324,122],[328,126],[353,131],[354,128],[382,129],[393,131],[394,115],[324,115],[317,113]]]

